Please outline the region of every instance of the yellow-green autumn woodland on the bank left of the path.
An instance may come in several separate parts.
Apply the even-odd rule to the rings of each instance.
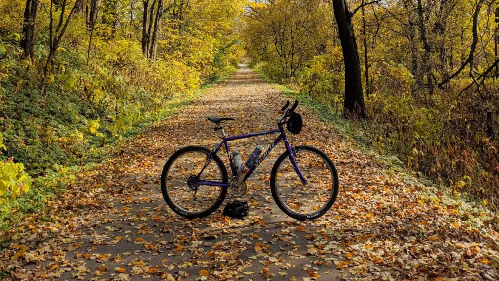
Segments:
[[[43,208],[78,166],[233,71],[242,7],[1,0],[1,223]]]

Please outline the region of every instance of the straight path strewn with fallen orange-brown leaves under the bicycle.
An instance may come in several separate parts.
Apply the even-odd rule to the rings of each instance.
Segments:
[[[466,203],[361,153],[303,106],[298,111],[305,126],[293,143],[317,146],[338,167],[340,192],[326,215],[297,222],[276,207],[268,181],[282,145],[250,177],[245,219],[224,218],[223,206],[194,221],[169,210],[159,187],[162,166],[182,146],[211,148],[219,141],[206,116],[237,118],[225,126],[231,135],[272,128],[285,100],[242,67],[109,162],[83,173],[77,201],[68,207],[71,219],[30,229],[31,236],[1,252],[10,274],[95,280],[498,278],[498,236],[489,216],[465,216]],[[263,136],[233,145],[248,155],[270,141]]]

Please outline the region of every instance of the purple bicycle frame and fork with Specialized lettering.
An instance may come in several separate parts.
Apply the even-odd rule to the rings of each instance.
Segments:
[[[272,151],[272,149],[275,147],[275,145],[277,145],[277,143],[279,143],[279,141],[284,140],[284,145],[286,146],[286,150],[289,152],[289,158],[291,160],[291,164],[293,165],[294,170],[296,171],[296,173],[300,177],[301,182],[303,184],[307,184],[308,183],[307,180],[305,179],[305,177],[301,173],[300,168],[298,167],[298,164],[296,163],[296,158],[295,158],[295,155],[293,153],[293,149],[291,148],[291,145],[289,145],[289,141],[287,140],[286,134],[285,134],[284,129],[283,129],[283,127],[282,127],[281,124],[279,124],[279,128],[278,129],[263,130],[263,131],[259,131],[259,132],[252,132],[252,133],[240,134],[240,135],[229,136],[229,137],[226,136],[226,135],[224,135],[222,137],[222,142],[220,142],[220,144],[216,148],[214,148],[211,151],[211,153],[208,155],[207,162],[206,162],[205,166],[203,167],[203,169],[201,169],[201,171],[199,172],[197,178],[201,177],[201,174],[203,173],[203,171],[205,171],[206,167],[208,167],[208,165],[210,164],[210,162],[213,159],[213,156],[218,153],[218,151],[220,150],[220,148],[222,148],[222,145],[225,146],[225,150],[227,151],[227,156],[229,157],[229,163],[230,163],[231,168],[232,168],[232,174],[234,176],[237,176],[238,172],[237,172],[237,169],[236,169],[236,165],[234,164],[234,162],[232,160],[231,150],[229,148],[228,142],[231,141],[231,140],[236,140],[236,139],[241,139],[241,138],[248,138],[248,137],[253,137],[253,136],[258,136],[258,135],[265,135],[265,134],[273,134],[273,133],[280,133],[280,134],[270,144],[270,146],[267,148],[267,150],[265,150],[263,152],[263,154],[261,154],[254,161],[254,163],[251,165],[251,167],[249,168],[249,170],[245,173],[244,179],[246,180],[248,177],[250,177],[250,175],[253,173],[253,171],[256,169],[256,167],[258,167],[258,165],[265,159],[265,157],[270,153],[270,151]],[[196,185],[229,187],[228,183],[224,183],[224,182],[221,182],[221,181],[215,181],[215,180],[208,180],[208,179],[205,179],[205,180],[200,179],[200,180],[192,181],[192,182],[189,182],[189,183],[196,184]]]

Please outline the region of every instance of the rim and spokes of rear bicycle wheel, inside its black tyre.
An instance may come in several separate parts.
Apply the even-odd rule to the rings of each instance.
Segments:
[[[202,151],[186,151],[175,158],[169,166],[166,176],[166,192],[178,211],[197,214],[211,209],[222,195],[219,186],[190,186],[189,178],[199,174],[207,161],[207,153]],[[212,159],[200,176],[223,182],[222,168]],[[196,195],[196,196],[195,196]]]

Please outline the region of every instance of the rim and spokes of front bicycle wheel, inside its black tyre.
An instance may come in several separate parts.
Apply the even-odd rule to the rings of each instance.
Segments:
[[[289,212],[313,217],[320,213],[334,193],[333,167],[319,153],[297,150],[296,162],[308,181],[303,185],[289,157],[277,167],[275,191],[284,208]]]

